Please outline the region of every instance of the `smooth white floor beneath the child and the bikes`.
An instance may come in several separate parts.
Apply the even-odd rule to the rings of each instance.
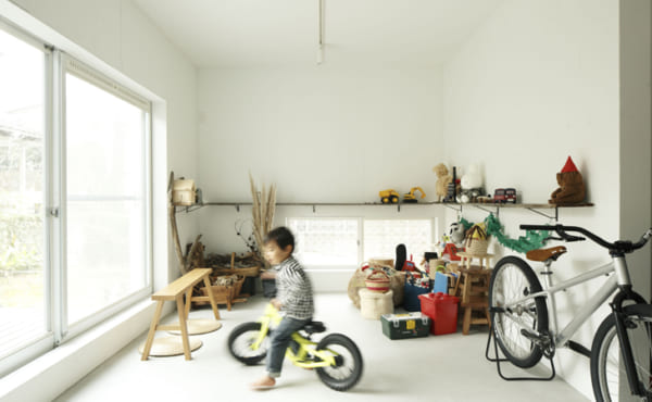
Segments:
[[[485,359],[486,328],[427,338],[389,340],[379,321],[360,317],[346,293],[317,294],[315,319],[328,332],[352,338],[364,357],[361,381],[348,392],[326,388],[314,372],[286,362],[277,387],[251,391],[249,384],[264,374],[264,366],[243,366],[227,351],[230,329],[255,321],[266,300],[261,296],[233,310],[221,309],[222,329],[196,336],[203,346],[183,356],[140,361],[138,347],[146,334],[116,353],[55,401],[586,401],[562,379],[550,382],[505,381],[496,364]],[[208,318],[210,309],[192,311],[190,318]],[[174,321],[168,316],[167,322]],[[472,327],[473,328],[473,327]],[[158,332],[158,336],[166,336]],[[506,368],[518,374],[513,368]],[[587,375],[589,375],[587,373]]]

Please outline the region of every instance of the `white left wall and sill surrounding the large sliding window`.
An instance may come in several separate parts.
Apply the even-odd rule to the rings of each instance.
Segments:
[[[0,15],[46,42],[121,79],[154,100],[154,281],[178,276],[168,246],[167,173],[197,175],[196,71],[185,55],[128,0],[1,0]],[[181,236],[197,233],[197,217],[181,217]],[[168,263],[170,262],[170,263]],[[3,377],[3,401],[50,400],[147,330],[151,301],[102,323],[87,335]]]

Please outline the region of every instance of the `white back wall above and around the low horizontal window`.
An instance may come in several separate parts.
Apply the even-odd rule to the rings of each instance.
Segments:
[[[201,70],[198,99],[199,186],[208,201],[250,202],[249,172],[259,186],[277,184],[278,202],[378,202],[379,190],[402,193],[414,186],[435,199],[431,168],[443,158],[440,70],[328,63]],[[425,209],[419,217],[438,213],[417,209]],[[249,208],[196,213],[206,251],[244,250],[234,223],[250,218]],[[275,222],[406,214],[385,206],[318,206],[315,213],[279,206]],[[313,275],[317,291],[330,291],[344,290],[351,273]]]

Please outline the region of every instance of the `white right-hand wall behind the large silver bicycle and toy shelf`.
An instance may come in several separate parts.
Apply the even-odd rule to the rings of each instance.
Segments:
[[[647,95],[640,90],[636,95],[647,97],[641,106],[648,105],[647,110],[637,110],[639,121],[647,122],[632,124],[636,134],[625,138],[620,133],[625,113],[622,117],[618,7],[615,1],[594,0],[505,1],[446,64],[443,75],[447,161],[461,166],[479,163],[488,189],[516,187],[524,202],[546,203],[556,188],[555,174],[572,155],[585,177],[588,201],[595,206],[562,210],[560,222],[585,226],[609,240],[640,236],[650,226],[649,61],[640,67],[647,68],[644,79],[639,74],[629,87],[645,88]],[[644,15],[649,25],[649,9]],[[649,30],[643,34],[644,49],[634,52],[649,55]],[[641,149],[629,156],[622,147]],[[632,160],[624,163],[628,158]],[[629,165],[642,167],[631,176]],[[624,176],[631,177],[625,188]],[[641,194],[631,192],[636,186]],[[629,194],[622,196],[623,190]],[[625,210],[624,202],[643,202],[644,208]],[[641,216],[630,225],[636,230],[624,234],[624,216],[636,214]],[[472,210],[467,218],[477,222],[485,216]],[[511,237],[523,234],[518,224],[549,222],[518,210],[501,210],[499,217]],[[590,242],[566,246],[569,253],[556,263],[564,265],[555,269],[556,280],[609,261]],[[496,250],[500,256],[502,250]],[[649,254],[647,259],[644,266],[649,266]],[[640,284],[650,282],[649,273],[644,275]],[[560,324],[601,284],[597,279],[575,293],[562,294],[557,299]],[[643,286],[641,290],[649,289]],[[602,309],[574,340],[590,348],[606,313]],[[559,351],[557,359],[561,376],[592,398],[588,360],[565,350]]]

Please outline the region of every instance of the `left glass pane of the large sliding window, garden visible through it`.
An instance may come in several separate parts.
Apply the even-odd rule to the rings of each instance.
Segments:
[[[0,359],[47,336],[46,52],[0,30]]]

